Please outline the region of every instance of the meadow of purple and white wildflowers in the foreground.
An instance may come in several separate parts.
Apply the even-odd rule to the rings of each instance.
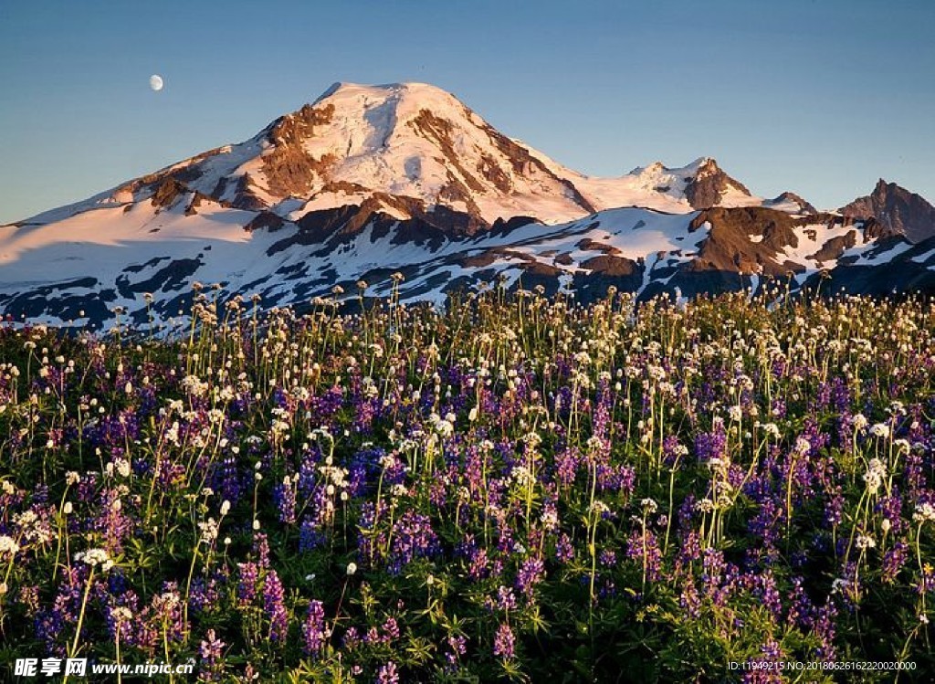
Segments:
[[[935,673],[931,300],[220,293],[0,327],[0,667]]]

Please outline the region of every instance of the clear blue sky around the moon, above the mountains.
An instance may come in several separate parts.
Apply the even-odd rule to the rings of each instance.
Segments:
[[[935,201],[933,0],[0,3],[0,223],[418,80],[593,175],[713,156],[820,207]],[[150,74],[165,78],[153,93]]]

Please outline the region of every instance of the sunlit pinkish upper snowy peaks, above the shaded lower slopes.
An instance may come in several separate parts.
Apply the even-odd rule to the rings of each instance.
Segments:
[[[197,154],[25,223],[145,199],[165,204],[185,190],[197,193],[195,201],[211,198],[290,221],[374,200],[399,218],[452,210],[474,219],[468,232],[514,216],[554,224],[614,207],[686,212],[762,202],[710,158],[591,178],[507,138],[434,86],[336,83],[245,142]]]

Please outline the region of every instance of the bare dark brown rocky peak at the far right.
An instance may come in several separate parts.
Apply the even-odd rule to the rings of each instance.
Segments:
[[[875,219],[886,230],[911,242],[935,236],[935,207],[922,196],[880,179],[868,196],[857,197],[841,207],[841,214],[856,219]]]

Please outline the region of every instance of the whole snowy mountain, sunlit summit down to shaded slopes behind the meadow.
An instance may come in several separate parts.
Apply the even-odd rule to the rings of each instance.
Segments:
[[[358,279],[384,296],[396,270],[404,298],[439,303],[497,278],[579,298],[798,287],[823,269],[854,291],[935,288],[935,240],[868,207],[765,200],[711,158],[592,178],[433,86],[338,84],[245,142],[0,226],[0,312],[166,320],[195,281],[301,306]]]

